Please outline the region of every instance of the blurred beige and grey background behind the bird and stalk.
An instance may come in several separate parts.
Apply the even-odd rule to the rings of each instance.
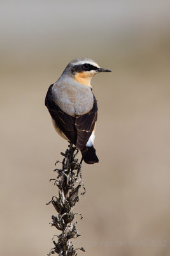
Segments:
[[[138,3],[136,3],[138,2]],[[170,1],[1,1],[1,255],[46,255],[66,141],[44,105],[83,56],[113,70],[92,80],[99,164],[83,164],[78,255],[169,255]]]

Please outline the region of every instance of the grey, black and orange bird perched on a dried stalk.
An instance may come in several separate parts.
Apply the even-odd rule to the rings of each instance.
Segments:
[[[46,93],[45,106],[52,116],[55,130],[81,150],[87,164],[99,162],[93,146],[97,100],[90,81],[95,74],[110,71],[88,58],[77,58],[67,65]]]

